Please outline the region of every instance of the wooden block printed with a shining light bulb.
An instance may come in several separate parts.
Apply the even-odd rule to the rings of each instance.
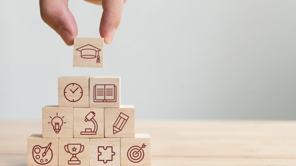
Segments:
[[[73,108],[57,105],[42,108],[43,138],[73,138]]]

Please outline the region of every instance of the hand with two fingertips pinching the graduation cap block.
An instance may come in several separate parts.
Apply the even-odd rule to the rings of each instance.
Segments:
[[[85,0],[102,5],[100,35],[106,44],[111,44],[121,20],[123,4],[126,0]],[[39,0],[43,21],[54,29],[67,45],[73,45],[78,29],[68,8],[68,0]]]

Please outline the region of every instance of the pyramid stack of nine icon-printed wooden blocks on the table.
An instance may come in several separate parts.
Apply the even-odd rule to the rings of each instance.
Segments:
[[[120,77],[59,77],[58,89],[42,135],[28,138],[28,166],[151,166],[151,138],[135,134],[134,106],[120,105]]]

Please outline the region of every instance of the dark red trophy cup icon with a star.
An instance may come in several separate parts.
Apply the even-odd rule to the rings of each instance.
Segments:
[[[70,160],[68,160],[68,164],[80,164],[80,160],[76,157],[76,154],[82,152],[84,149],[84,146],[81,144],[67,144],[65,145],[65,151],[72,154]]]

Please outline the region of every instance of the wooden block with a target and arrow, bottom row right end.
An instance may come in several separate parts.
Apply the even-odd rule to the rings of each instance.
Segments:
[[[135,138],[120,139],[121,166],[151,166],[151,137],[136,134]]]

